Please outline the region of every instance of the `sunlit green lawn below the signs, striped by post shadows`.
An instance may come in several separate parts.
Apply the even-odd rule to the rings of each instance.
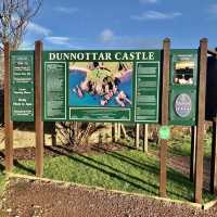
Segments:
[[[34,168],[33,161],[21,161],[14,173],[31,175]],[[158,174],[157,158],[135,150],[44,158],[46,178],[144,195],[158,195]],[[189,178],[171,168],[167,175],[168,197],[192,201],[193,183]],[[214,199],[207,192],[203,197],[204,202]]]

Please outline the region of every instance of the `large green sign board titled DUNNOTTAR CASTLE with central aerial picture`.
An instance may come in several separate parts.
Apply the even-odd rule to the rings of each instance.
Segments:
[[[43,120],[158,123],[159,50],[44,51]]]

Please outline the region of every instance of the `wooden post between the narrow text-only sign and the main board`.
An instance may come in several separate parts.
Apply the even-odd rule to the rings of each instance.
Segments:
[[[36,176],[43,175],[43,122],[41,87],[42,42],[35,43],[35,125],[36,125]]]

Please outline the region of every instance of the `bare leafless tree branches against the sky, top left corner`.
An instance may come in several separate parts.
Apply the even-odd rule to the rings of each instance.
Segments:
[[[42,0],[1,0],[0,2],[0,51],[4,42],[16,50],[30,20],[37,14]]]

